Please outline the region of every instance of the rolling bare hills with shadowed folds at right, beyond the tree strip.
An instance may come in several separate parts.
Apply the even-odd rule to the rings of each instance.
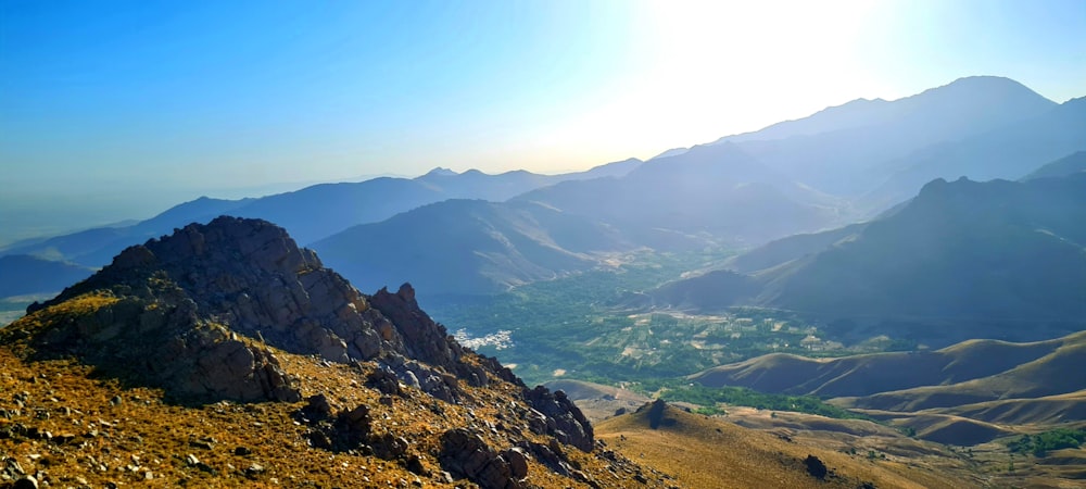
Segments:
[[[1082,372],[1084,367],[1086,333],[1078,333],[1031,343],[972,340],[930,352],[839,359],[770,354],[710,368],[691,378],[707,386],[856,397],[850,405],[915,411],[1075,392],[1086,389],[1086,377],[1070,374]],[[951,397],[954,399],[939,401]]]

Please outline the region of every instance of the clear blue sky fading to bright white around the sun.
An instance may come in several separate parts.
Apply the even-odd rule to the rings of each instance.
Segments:
[[[584,170],[970,75],[1086,96],[1086,1],[0,0],[0,228]]]

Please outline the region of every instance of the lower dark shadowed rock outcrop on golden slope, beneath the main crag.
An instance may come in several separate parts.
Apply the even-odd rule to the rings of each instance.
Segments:
[[[35,339],[41,358],[75,355],[106,375],[167,388],[175,398],[298,401],[298,381],[266,348],[200,318],[180,290],[125,297]],[[48,311],[47,311],[48,313]]]

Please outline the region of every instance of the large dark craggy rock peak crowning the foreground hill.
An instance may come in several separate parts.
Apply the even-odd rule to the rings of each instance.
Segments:
[[[161,293],[149,283],[163,280],[195,303],[201,317],[292,353],[346,362],[403,348],[391,331],[382,340],[382,327],[391,324],[362,293],[282,228],[260,220],[224,216],[130,247],[46,305],[100,289],[156,301]]]

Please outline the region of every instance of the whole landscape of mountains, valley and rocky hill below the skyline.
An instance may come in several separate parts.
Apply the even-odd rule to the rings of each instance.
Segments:
[[[1076,487],[1084,101],[967,77],[10,240],[0,488]]]

